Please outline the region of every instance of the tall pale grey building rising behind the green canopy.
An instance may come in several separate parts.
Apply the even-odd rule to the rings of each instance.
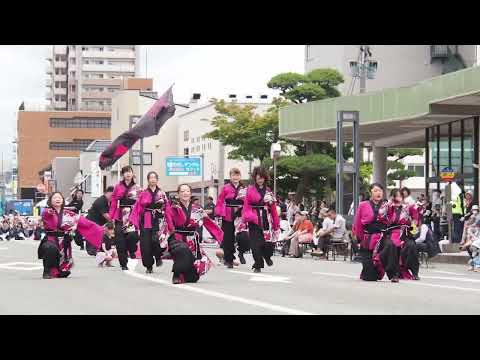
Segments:
[[[345,78],[342,95],[358,94],[360,84],[352,77],[350,61],[359,61],[360,45],[306,45],[305,72],[337,69]],[[369,45],[378,63],[367,91],[410,86],[419,81],[475,65],[477,45]],[[352,86],[353,85],[353,86]]]

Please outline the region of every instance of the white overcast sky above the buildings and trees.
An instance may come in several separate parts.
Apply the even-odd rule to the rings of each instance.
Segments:
[[[202,98],[229,93],[273,95],[268,80],[280,72],[303,72],[302,45],[149,45],[140,47],[141,75],[154,78],[160,94],[172,83],[176,102],[193,92]],[[45,104],[48,47],[0,46],[0,151],[8,161],[22,101]],[[148,66],[145,66],[145,60]]]

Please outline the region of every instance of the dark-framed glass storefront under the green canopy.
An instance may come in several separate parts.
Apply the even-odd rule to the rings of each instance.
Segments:
[[[473,117],[426,129],[427,189],[441,189],[439,171],[450,167],[478,199],[478,169],[473,166],[478,164],[478,126],[479,118]]]

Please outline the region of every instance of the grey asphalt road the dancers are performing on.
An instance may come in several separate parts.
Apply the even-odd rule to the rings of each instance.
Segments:
[[[42,279],[38,243],[0,241],[0,314],[480,314],[480,273],[434,264],[420,281],[363,282],[361,265],[275,256],[253,274],[252,258],[235,269],[216,266],[196,284],[173,285],[171,261],[145,274],[98,268],[74,250],[67,279]],[[214,250],[208,249],[215,263]]]

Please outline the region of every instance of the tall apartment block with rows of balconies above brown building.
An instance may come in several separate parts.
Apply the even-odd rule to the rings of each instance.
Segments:
[[[125,78],[139,75],[138,45],[53,45],[47,57],[50,110],[110,111]]]

